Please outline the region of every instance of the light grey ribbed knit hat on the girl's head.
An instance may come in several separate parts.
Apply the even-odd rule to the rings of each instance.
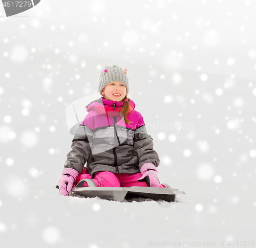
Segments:
[[[106,65],[99,75],[99,93],[101,95],[102,89],[111,82],[118,81],[124,83],[126,86],[126,95],[129,93],[129,78],[127,77],[127,70],[123,70],[118,65]],[[102,96],[102,95],[101,95]]]

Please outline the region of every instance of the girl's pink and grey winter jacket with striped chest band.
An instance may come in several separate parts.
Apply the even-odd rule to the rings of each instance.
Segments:
[[[114,173],[138,173],[145,163],[159,165],[158,153],[153,149],[153,139],[146,132],[142,115],[132,110],[124,122],[121,107],[124,102],[99,98],[86,106],[89,112],[76,130],[72,150],[67,155],[66,168],[93,176],[98,171]]]

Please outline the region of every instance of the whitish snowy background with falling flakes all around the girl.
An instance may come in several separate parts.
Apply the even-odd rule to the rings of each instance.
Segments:
[[[0,246],[255,247],[255,8],[41,0],[7,18],[0,4]],[[113,64],[127,69],[161,182],[186,193],[179,202],[55,188],[73,139],[66,107],[96,93]]]

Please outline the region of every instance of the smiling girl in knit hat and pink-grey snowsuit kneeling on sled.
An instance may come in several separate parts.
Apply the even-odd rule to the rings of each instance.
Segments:
[[[99,77],[101,98],[77,128],[59,180],[59,193],[69,195],[83,178],[97,187],[160,187],[159,156],[147,134],[142,115],[127,97],[127,70],[105,66]],[[83,167],[87,163],[86,168]],[[88,187],[87,183],[83,187]]]

